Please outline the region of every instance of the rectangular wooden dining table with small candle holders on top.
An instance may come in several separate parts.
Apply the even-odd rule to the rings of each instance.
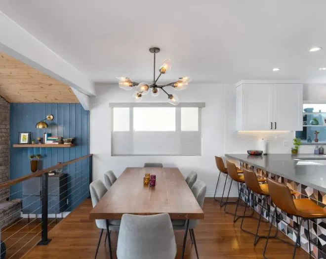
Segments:
[[[145,173],[156,175],[155,187],[144,185]],[[107,222],[111,258],[109,220],[121,219],[125,213],[134,215],[168,213],[173,220],[185,220],[182,259],[189,220],[204,219],[203,209],[177,167],[127,167],[91,210],[90,219],[104,219]]]

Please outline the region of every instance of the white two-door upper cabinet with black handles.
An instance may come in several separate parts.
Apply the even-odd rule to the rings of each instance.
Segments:
[[[302,130],[303,85],[245,82],[237,86],[237,130]]]

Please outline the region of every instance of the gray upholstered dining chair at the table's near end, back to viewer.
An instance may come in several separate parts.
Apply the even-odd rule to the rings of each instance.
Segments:
[[[118,238],[118,259],[174,259],[176,243],[167,213],[123,214]]]

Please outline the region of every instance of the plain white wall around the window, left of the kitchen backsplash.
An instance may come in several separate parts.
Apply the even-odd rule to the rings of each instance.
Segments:
[[[117,84],[97,84],[96,96],[90,99],[90,152],[93,156],[93,179],[103,180],[103,173],[113,170],[117,176],[127,166],[142,167],[145,162],[163,162],[165,167],[177,166],[186,175],[195,170],[198,179],[207,184],[207,196],[212,196],[218,177],[214,156],[223,156],[225,150],[225,86],[224,84],[192,84],[187,90],[177,92],[182,102],[205,102],[202,109],[202,156],[135,156],[111,157],[111,112],[110,102],[131,101],[133,91],[124,91]],[[166,88],[168,92],[175,92]],[[166,101],[166,95],[150,94],[143,101]],[[141,183],[140,183],[141,184]],[[219,195],[223,186],[219,188]],[[232,195],[236,196],[234,189]]]

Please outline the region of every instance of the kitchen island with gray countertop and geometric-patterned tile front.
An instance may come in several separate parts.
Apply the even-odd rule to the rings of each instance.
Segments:
[[[251,156],[248,154],[226,154],[230,162],[239,163],[242,168],[254,171],[258,177],[271,178],[284,183],[295,192],[296,198],[309,198],[316,204],[326,207],[326,155],[314,154],[269,154],[266,156]],[[238,164],[239,165],[239,164]],[[248,190],[245,187],[242,199],[246,200]],[[255,195],[255,210],[263,209],[263,216],[274,212],[274,206],[263,204],[260,195]],[[250,202],[253,205],[253,202]],[[264,208],[267,208],[265,210]],[[289,238],[295,240],[297,236],[297,219],[287,215],[280,209],[277,210],[276,222],[279,229]],[[276,226],[275,222],[274,225]],[[302,227],[301,246],[308,251],[308,224]],[[326,220],[312,220],[310,235],[313,240],[313,255],[315,258],[326,259]]]

